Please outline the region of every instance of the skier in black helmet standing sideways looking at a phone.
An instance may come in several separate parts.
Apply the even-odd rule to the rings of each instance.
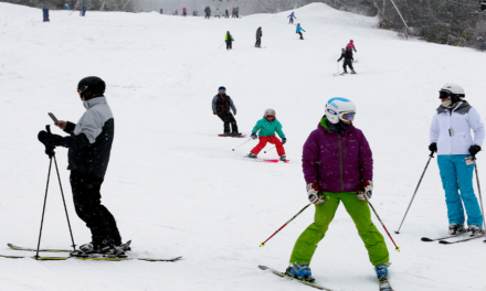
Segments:
[[[112,152],[115,134],[115,119],[106,101],[105,82],[98,77],[83,78],[77,93],[86,111],[77,125],[60,120],[56,126],[70,133],[68,137],[39,132],[39,140],[46,149],[68,148],[67,160],[71,170],[71,187],[77,216],[86,223],[92,233],[92,242],[82,245],[84,254],[123,255],[122,237],[115,218],[101,204],[102,187]]]

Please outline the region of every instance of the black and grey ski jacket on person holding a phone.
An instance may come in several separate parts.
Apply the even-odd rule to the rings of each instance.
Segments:
[[[105,177],[112,143],[115,137],[115,119],[106,97],[101,96],[83,103],[87,109],[77,125],[67,122],[64,147],[68,148],[67,170]]]

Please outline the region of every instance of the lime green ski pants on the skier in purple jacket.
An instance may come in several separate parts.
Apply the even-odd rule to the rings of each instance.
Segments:
[[[383,236],[371,222],[371,212],[366,201],[360,201],[356,193],[324,193],[326,198],[323,204],[316,204],[314,224],[298,237],[290,256],[290,263],[309,265],[316,251],[317,244],[324,238],[330,222],[335,217],[339,202],[355,222],[358,234],[368,249],[368,256],[373,266],[389,261],[388,248]]]

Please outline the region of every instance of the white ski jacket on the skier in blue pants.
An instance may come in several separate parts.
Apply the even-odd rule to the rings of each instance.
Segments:
[[[474,139],[471,136],[474,131]],[[461,101],[454,109],[442,105],[432,119],[430,142],[437,143],[437,154],[471,154],[473,144],[483,148],[484,125],[476,109],[467,101]]]

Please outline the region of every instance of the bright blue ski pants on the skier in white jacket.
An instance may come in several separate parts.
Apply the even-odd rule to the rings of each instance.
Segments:
[[[467,225],[483,226],[483,215],[473,188],[474,164],[467,165],[466,154],[439,155],[442,186],[450,224],[464,225],[464,207]],[[464,203],[464,207],[463,207]]]

